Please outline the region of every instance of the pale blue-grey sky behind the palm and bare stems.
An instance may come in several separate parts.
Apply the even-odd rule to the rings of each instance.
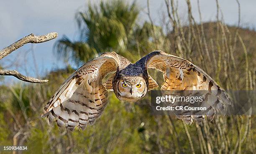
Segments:
[[[179,14],[186,20],[186,1],[177,0]],[[24,36],[34,33],[44,35],[57,32],[58,38],[39,44],[26,44],[10,55],[0,60],[5,69],[14,69],[27,76],[40,78],[51,70],[64,68],[67,62],[61,60],[53,51],[56,40],[67,35],[76,40],[79,35],[75,21],[75,13],[86,10],[89,0],[2,0],[0,5],[0,50],[14,43]],[[90,3],[99,3],[100,0],[91,0]],[[128,0],[132,3],[133,0]],[[204,22],[216,19],[215,0],[199,0],[202,20]],[[256,25],[256,0],[240,0],[241,26],[253,27]],[[143,10],[139,15],[139,23],[148,20],[146,15],[147,0],[137,0]],[[161,14],[166,13],[164,0],[149,0],[151,18],[156,25],[161,23]],[[237,25],[238,4],[236,0],[219,0],[225,23]],[[191,0],[192,13],[199,21],[197,0]],[[11,84],[18,80],[6,76],[0,84]]]

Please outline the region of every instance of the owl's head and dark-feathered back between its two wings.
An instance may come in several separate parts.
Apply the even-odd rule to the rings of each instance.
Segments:
[[[118,55],[119,56],[119,55]],[[143,98],[148,89],[148,72],[141,63],[132,64],[120,56],[118,68],[112,81],[113,91],[121,101],[135,102]],[[123,87],[126,84],[127,87]],[[136,85],[141,85],[137,88]],[[139,92],[137,93],[136,90]],[[122,93],[123,92],[123,95]]]

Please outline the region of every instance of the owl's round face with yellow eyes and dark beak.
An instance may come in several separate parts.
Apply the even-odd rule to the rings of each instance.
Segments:
[[[147,93],[146,81],[139,76],[125,76],[115,86],[114,92],[121,101],[135,102]]]

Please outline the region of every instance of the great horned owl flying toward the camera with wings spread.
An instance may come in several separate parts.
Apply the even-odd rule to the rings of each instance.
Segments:
[[[157,88],[156,81],[148,75],[148,68],[164,73],[161,90],[221,89],[198,66],[163,51],[151,52],[134,64],[115,52],[107,52],[85,63],[67,78],[44,108],[44,116],[49,121],[57,121],[60,127],[74,130],[78,126],[84,129],[102,114],[107,105],[108,90],[113,90],[121,101],[135,102],[142,99],[148,91]],[[102,83],[102,78],[109,73],[114,74]],[[225,92],[216,95],[223,93]],[[219,104],[220,101],[213,102],[208,106],[209,110]],[[213,118],[214,114],[212,112],[210,116]],[[192,116],[187,118],[181,119],[192,122]],[[203,116],[197,117],[202,118]]]

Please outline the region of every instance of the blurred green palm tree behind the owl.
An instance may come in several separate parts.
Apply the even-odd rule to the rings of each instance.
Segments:
[[[121,54],[127,48],[128,39],[134,31],[139,10],[136,3],[129,5],[122,0],[101,1],[76,15],[80,40],[67,36],[54,45],[59,56],[76,62],[86,62],[98,53],[115,50]]]

